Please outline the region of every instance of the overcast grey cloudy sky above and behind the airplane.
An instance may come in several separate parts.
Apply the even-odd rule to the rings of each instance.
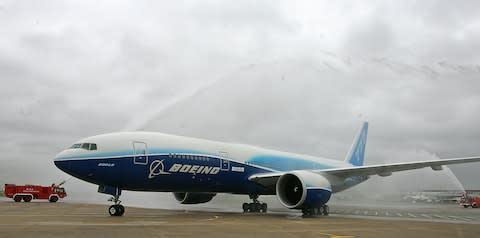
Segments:
[[[123,130],[343,159],[367,120],[368,164],[480,155],[478,9],[0,0],[0,182],[66,178],[56,153]],[[480,189],[479,164],[452,168]],[[422,170],[371,183],[447,177]]]

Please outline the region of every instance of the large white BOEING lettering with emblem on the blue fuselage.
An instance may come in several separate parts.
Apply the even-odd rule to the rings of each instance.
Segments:
[[[173,164],[172,167],[165,171],[163,160],[154,160],[150,164],[150,174],[148,178],[154,178],[158,175],[171,174],[171,173],[191,173],[191,174],[218,174],[220,167],[211,167],[203,165],[191,165],[191,164]]]

